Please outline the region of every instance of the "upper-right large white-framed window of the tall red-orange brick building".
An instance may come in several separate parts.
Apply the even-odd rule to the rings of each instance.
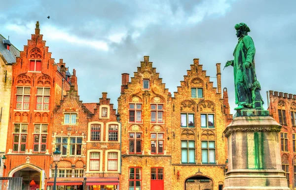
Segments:
[[[36,110],[49,110],[50,88],[37,88]]]

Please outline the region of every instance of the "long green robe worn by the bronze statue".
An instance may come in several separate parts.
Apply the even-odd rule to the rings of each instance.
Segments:
[[[252,108],[252,88],[257,80],[255,71],[255,45],[250,36],[239,39],[233,52],[233,71],[235,86],[235,104]],[[243,64],[249,62],[251,67],[245,68]]]

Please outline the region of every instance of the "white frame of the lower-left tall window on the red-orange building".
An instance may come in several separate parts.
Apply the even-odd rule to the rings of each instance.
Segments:
[[[16,132],[16,125],[19,125],[19,131]],[[27,142],[28,142],[28,123],[14,123],[14,128],[13,128],[13,139],[12,139],[12,152],[26,152],[26,148],[27,148]],[[23,128],[23,126],[26,126]],[[18,142],[14,142],[15,141],[15,136],[18,135]],[[25,137],[26,141],[22,142],[23,137]],[[14,149],[14,145],[18,145],[17,146],[17,151],[15,151]],[[22,146],[25,146],[25,151],[21,151],[22,150]]]

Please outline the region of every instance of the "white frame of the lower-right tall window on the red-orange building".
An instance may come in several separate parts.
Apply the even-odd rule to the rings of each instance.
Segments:
[[[39,131],[37,132],[36,128],[37,125],[39,126]],[[43,126],[46,126],[46,131],[44,131]],[[33,133],[33,152],[40,152],[40,153],[45,153],[46,148],[47,148],[47,132],[48,132],[48,124],[46,123],[35,123],[34,124],[34,133]],[[35,142],[35,137],[39,138],[38,142]],[[46,141],[42,142],[42,137],[45,136]],[[35,145],[38,145],[38,151],[35,151]],[[45,145],[45,150],[42,151],[42,145]]]

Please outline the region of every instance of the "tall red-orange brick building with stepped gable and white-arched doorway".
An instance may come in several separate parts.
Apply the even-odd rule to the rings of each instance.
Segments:
[[[35,188],[46,186],[51,164],[53,110],[70,89],[71,75],[65,63],[54,62],[42,38],[37,21],[35,34],[12,65],[3,176],[23,177],[25,190],[29,190],[29,183],[35,183]],[[7,185],[6,182],[4,187]]]

